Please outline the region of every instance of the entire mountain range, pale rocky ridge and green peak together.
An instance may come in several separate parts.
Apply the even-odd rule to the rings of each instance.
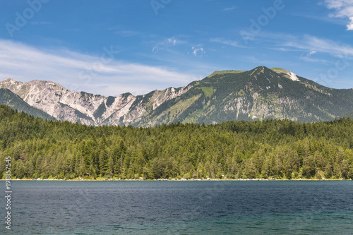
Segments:
[[[104,97],[70,91],[58,83],[7,79],[0,88],[56,119],[88,125],[155,126],[229,120],[329,121],[353,111],[353,89],[338,90],[282,68],[215,71],[183,88]]]

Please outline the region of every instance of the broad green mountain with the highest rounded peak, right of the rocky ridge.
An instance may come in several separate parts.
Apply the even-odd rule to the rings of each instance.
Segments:
[[[282,68],[216,71],[190,84],[136,126],[232,120],[329,121],[353,109],[353,90],[325,88]]]

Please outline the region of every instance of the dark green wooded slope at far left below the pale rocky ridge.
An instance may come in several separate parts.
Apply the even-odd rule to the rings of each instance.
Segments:
[[[0,104],[6,104],[12,109],[17,109],[18,112],[25,112],[26,114],[33,115],[35,117],[40,117],[42,119],[55,120],[53,116],[43,112],[40,109],[30,106],[24,102],[18,95],[11,92],[11,90],[1,88],[0,89]]]

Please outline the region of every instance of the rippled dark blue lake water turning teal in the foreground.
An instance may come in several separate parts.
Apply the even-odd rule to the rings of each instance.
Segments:
[[[352,181],[12,184],[0,234],[353,234]]]

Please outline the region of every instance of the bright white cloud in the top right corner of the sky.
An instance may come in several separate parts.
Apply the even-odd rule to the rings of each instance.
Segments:
[[[349,18],[347,30],[353,30],[353,0],[325,0],[325,5],[335,10],[330,17]]]

